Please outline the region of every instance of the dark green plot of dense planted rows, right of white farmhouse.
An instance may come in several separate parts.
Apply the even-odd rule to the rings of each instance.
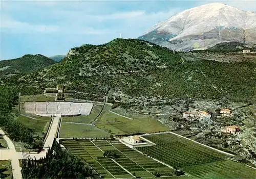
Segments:
[[[174,134],[143,136],[157,145],[138,147],[143,154],[150,155],[175,167],[200,165],[220,161],[229,156]]]

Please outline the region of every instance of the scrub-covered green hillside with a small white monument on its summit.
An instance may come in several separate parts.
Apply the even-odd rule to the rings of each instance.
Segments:
[[[167,48],[136,39],[72,48],[65,60],[18,80],[22,85],[94,94],[143,97],[195,97],[256,101],[256,64],[182,60]],[[17,83],[17,82],[16,82]],[[157,99],[155,98],[155,99]]]

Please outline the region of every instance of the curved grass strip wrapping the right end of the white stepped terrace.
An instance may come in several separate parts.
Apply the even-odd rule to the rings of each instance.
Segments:
[[[63,122],[77,122],[77,123],[89,123],[93,121],[102,109],[102,105],[93,105],[90,115],[81,115],[75,117],[63,117]]]

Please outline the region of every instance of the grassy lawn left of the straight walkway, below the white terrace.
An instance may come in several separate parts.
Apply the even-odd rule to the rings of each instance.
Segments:
[[[35,133],[42,133],[47,132],[46,126],[49,126],[50,121],[44,121],[44,120],[35,120],[31,119],[26,116],[19,116],[16,120],[23,123],[24,125],[27,125],[30,129],[34,130]]]

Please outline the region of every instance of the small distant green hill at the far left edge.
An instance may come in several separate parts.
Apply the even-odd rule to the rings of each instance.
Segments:
[[[11,76],[18,73],[28,73],[37,71],[56,63],[40,54],[24,55],[23,57],[11,60],[0,61],[0,78],[3,76]]]

